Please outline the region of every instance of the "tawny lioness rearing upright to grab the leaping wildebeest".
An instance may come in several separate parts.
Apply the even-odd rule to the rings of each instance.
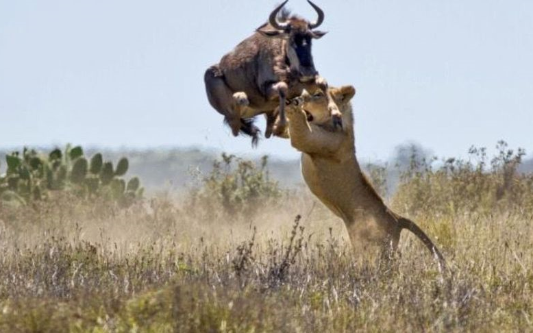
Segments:
[[[301,172],[311,192],[343,219],[357,250],[378,245],[395,251],[402,229],[410,230],[432,251],[441,268],[445,260],[429,237],[412,221],[387,208],[361,172],[354,143],[350,99],[353,86],[330,88],[342,114],[342,128],[331,125],[327,99],[306,91],[287,108],[290,143],[302,152]]]

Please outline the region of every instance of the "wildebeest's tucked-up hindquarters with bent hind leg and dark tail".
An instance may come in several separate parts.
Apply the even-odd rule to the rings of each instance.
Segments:
[[[240,118],[240,108],[245,108],[249,104],[247,95],[243,92],[234,93],[225,83],[223,74],[216,65],[206,71],[203,80],[209,103],[224,116],[233,135],[237,136],[239,132],[247,134],[252,137],[252,144],[256,145],[260,130],[253,125],[253,119]]]

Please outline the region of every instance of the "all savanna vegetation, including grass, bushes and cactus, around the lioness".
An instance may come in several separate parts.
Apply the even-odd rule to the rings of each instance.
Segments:
[[[127,162],[78,148],[6,158],[0,332],[532,328],[533,175],[519,172],[522,149],[500,142],[495,156],[472,147],[443,160],[412,149],[393,193],[386,169],[369,169],[389,206],[441,248],[441,274],[405,232],[395,260],[353,254],[342,222],[305,187],[273,180],[267,158],[223,154],[179,195],[143,196]]]

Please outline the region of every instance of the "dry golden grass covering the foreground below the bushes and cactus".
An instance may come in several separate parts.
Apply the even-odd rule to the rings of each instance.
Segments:
[[[342,223],[303,189],[232,215],[191,196],[127,210],[65,197],[0,206],[0,332],[532,327],[533,216],[524,210],[416,210],[447,258],[441,275],[408,234],[392,262],[354,255]],[[394,200],[409,211],[408,199]]]

